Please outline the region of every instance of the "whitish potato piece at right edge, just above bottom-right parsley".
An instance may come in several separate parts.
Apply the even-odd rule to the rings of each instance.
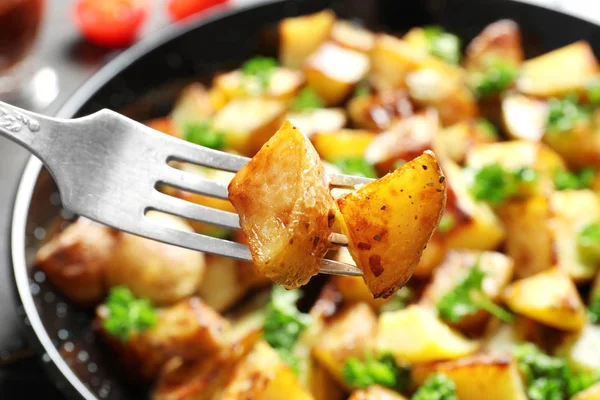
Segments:
[[[600,326],[587,324],[580,332],[563,338],[555,354],[564,358],[575,371],[600,369]]]

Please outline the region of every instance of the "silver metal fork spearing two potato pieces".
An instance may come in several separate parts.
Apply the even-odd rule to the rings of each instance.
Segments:
[[[240,229],[239,216],[160,192],[167,185],[228,199],[227,186],[182,171],[171,161],[236,172],[249,158],[198,146],[157,132],[103,109],[77,119],[50,118],[0,102],[0,134],[30,150],[58,187],[62,206],[112,228],[187,249],[252,260],[246,245],[160,225],[146,217],[159,211],[206,224]],[[330,185],[354,188],[371,179],[330,175]],[[345,236],[330,241],[344,245]],[[361,276],[357,267],[323,259],[319,272]]]

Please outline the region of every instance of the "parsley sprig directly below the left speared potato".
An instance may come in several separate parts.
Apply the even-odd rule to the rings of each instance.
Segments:
[[[299,290],[273,286],[263,326],[263,336],[267,343],[277,350],[281,359],[296,372],[299,360],[292,350],[300,334],[310,324],[310,316],[296,307],[301,293]]]

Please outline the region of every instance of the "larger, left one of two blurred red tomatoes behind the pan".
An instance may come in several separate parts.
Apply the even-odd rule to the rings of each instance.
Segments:
[[[149,0],[79,0],[73,18],[90,42],[115,48],[135,40],[149,11]]]

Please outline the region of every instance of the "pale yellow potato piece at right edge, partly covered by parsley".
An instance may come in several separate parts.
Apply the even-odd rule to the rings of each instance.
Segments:
[[[592,280],[598,266],[581,257],[577,237],[588,224],[600,220],[600,198],[587,189],[555,192],[550,197],[550,215],[547,226],[557,266],[576,282]]]

